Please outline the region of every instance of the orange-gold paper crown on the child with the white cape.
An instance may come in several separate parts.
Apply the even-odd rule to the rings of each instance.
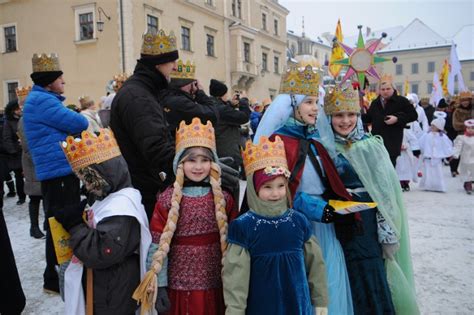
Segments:
[[[121,155],[112,130],[102,128],[99,132],[96,136],[85,130],[81,133],[81,138],[68,136],[62,142],[61,147],[73,171]]]

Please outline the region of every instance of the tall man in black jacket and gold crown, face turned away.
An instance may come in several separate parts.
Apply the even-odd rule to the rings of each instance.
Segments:
[[[110,127],[149,219],[156,194],[172,183],[174,141],[158,94],[168,88],[177,59],[172,34],[145,34],[135,71],[117,92],[111,107]]]

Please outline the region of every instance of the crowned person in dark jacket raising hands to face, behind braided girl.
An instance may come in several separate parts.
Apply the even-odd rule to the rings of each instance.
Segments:
[[[178,66],[171,73],[168,89],[162,91],[160,100],[165,110],[166,121],[174,136],[179,123],[191,123],[194,117],[202,122],[217,122],[217,111],[212,98],[206,95],[201,83],[195,78],[196,65],[178,60]]]

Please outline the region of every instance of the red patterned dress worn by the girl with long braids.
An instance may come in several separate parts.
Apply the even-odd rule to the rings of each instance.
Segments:
[[[199,191],[197,194],[196,189]],[[155,248],[166,225],[172,193],[172,187],[166,189],[158,198],[153,212],[150,231]],[[232,211],[231,195],[225,191],[223,194],[230,222],[237,213]],[[168,254],[171,309],[167,314],[224,314],[222,254],[212,191],[208,187],[184,187],[179,213]]]

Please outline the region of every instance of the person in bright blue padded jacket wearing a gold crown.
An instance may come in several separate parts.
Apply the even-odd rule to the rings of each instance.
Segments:
[[[87,119],[67,109],[63,72],[56,54],[34,54],[35,83],[23,108],[25,137],[33,158],[36,177],[46,205],[46,217],[54,216],[58,209],[80,200],[79,180],[73,174],[59,143],[70,134],[87,129]],[[46,269],[43,288],[59,292],[54,252],[49,225],[46,223]]]

